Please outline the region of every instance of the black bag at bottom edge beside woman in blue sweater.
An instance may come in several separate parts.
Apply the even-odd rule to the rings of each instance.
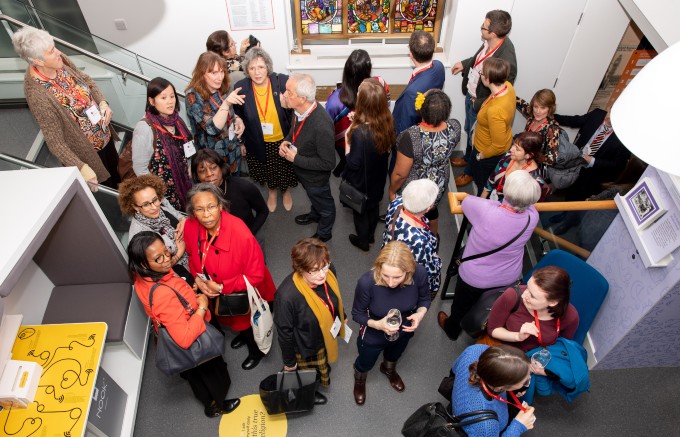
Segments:
[[[401,434],[405,437],[467,436],[463,426],[484,420],[498,420],[498,415],[493,410],[479,410],[452,416],[440,402],[433,402],[411,414],[404,422]]]

